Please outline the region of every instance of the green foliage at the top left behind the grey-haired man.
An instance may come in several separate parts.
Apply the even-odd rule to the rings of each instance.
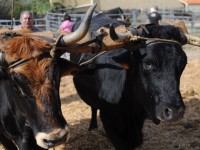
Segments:
[[[47,0],[14,0],[14,17],[19,19],[20,13],[30,10],[35,17],[44,16],[50,5]],[[10,19],[12,14],[12,0],[0,0],[0,18]]]

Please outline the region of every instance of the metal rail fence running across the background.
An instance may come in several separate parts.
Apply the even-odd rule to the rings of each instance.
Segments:
[[[147,11],[132,11],[130,13],[124,13],[126,18],[129,18],[131,23],[143,24],[146,23],[147,20]],[[161,10],[163,22],[166,21],[174,21],[176,19],[184,20],[187,28],[190,32],[200,32],[200,12],[184,12],[180,10]],[[77,19],[82,19],[85,14],[70,14],[72,21],[76,21]],[[116,18],[119,14],[106,14],[110,17]],[[64,14],[59,13],[47,13],[45,18],[37,18],[34,19],[34,24],[36,27],[41,30],[53,31],[56,32],[63,20]],[[20,23],[19,20],[13,20],[13,26],[18,25]],[[0,28],[2,26],[6,26],[10,28],[12,24],[11,20],[0,20]]]

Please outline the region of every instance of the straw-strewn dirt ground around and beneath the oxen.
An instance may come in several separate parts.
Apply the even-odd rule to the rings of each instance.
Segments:
[[[147,120],[143,128],[144,143],[138,150],[200,150],[200,48],[186,45],[184,50],[188,56],[180,87],[187,108],[184,118],[157,126]],[[77,95],[71,76],[62,78],[60,94],[62,112],[71,130],[65,149],[114,150],[99,119],[99,129],[87,131],[90,107]]]

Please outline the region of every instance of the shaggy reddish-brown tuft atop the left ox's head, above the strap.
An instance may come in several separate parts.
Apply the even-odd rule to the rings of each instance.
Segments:
[[[52,46],[43,39],[26,34],[14,36],[9,40],[1,39],[1,41],[0,49],[6,53],[8,61],[35,57],[45,51],[49,51]]]

